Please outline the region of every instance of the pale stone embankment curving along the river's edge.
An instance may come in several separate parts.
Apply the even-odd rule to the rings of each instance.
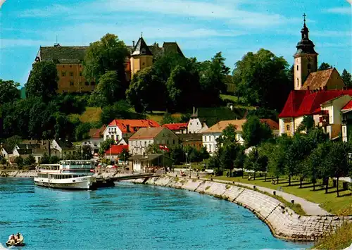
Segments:
[[[327,232],[336,230],[344,222],[352,222],[352,216],[302,216],[294,213],[277,199],[252,189],[230,184],[181,177],[142,178],[134,183],[187,189],[227,199],[244,206],[266,223],[275,237],[292,241],[315,241]]]

